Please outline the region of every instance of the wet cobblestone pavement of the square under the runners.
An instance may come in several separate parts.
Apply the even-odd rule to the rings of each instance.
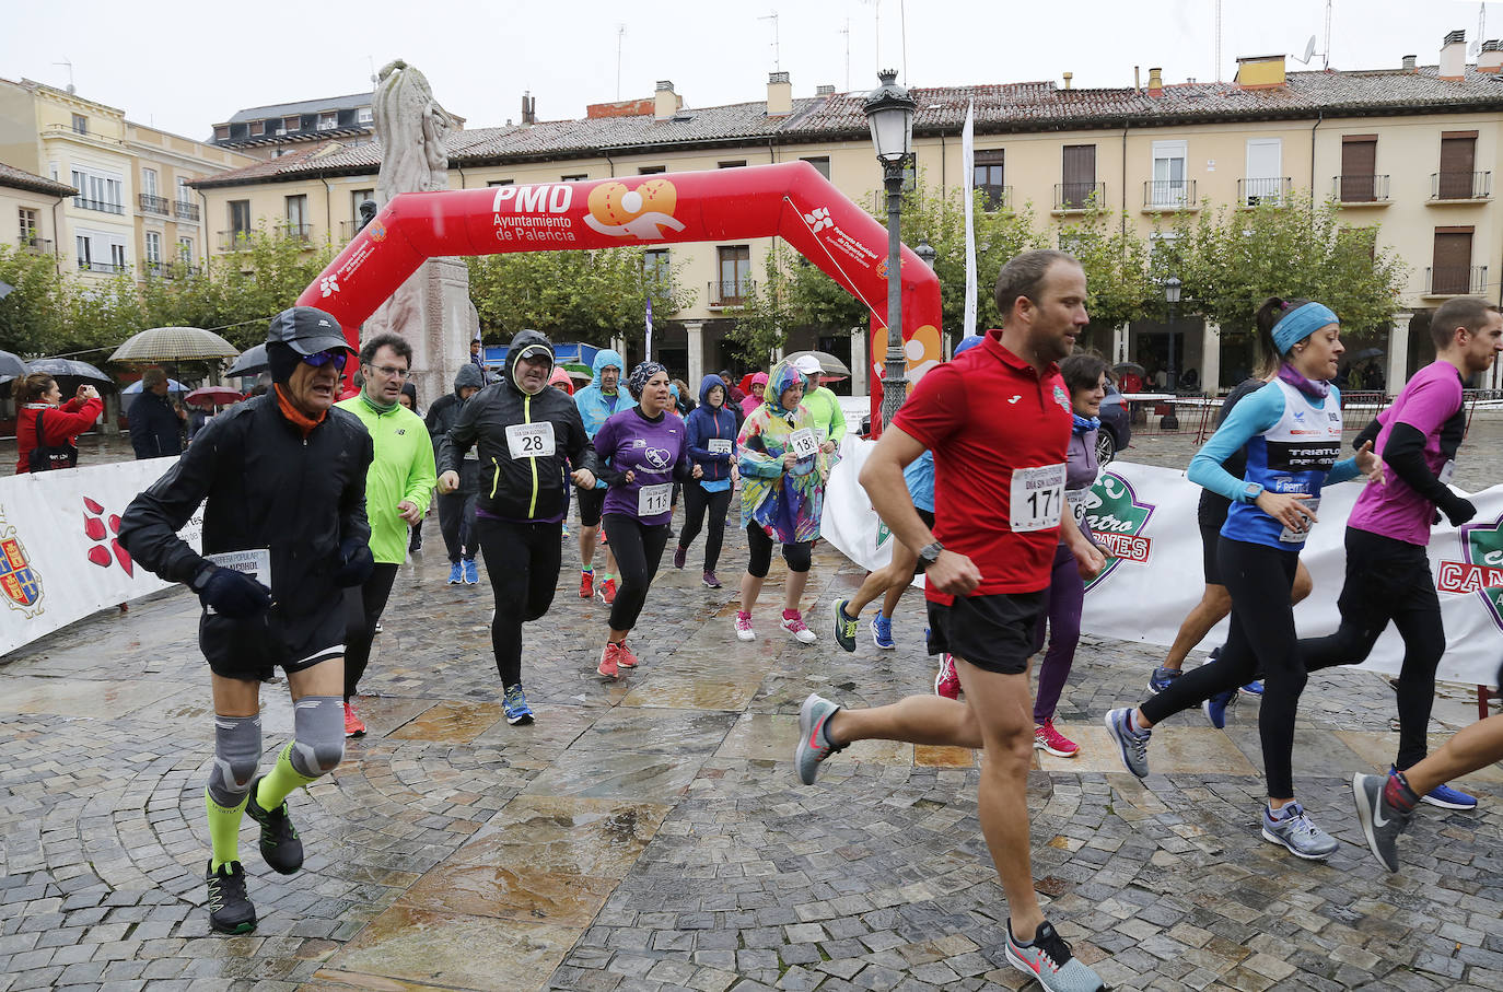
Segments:
[[[897,651],[839,651],[824,618],[860,573],[821,546],[806,595],[819,643],[776,627],[780,562],[759,637],[739,643],[736,592],[703,589],[691,555],[649,595],[642,669],[603,682],[606,607],[576,598],[565,568],[528,627],[538,721],[510,727],[484,570],[478,588],[448,586],[431,520],[428,537],[362,687],[370,735],[290,800],[304,872],[275,875],[242,834],[254,935],[209,935],[203,908],[212,720],[195,600],[161,594],[0,661],[0,992],[1027,984],[1001,953],[969,750],[863,742],[818,786],[792,773],[809,691],[882,703],[929,688],[918,595]],[[744,562],[730,535],[720,574]],[[1102,714],[1139,697],[1153,663],[1082,639],[1058,712],[1082,753],[1037,758],[1030,777],[1037,887],[1082,959],[1118,989],[1503,989],[1503,767],[1467,780],[1479,812],[1422,809],[1404,872],[1381,872],[1347,779],[1392,758],[1390,690],[1321,673],[1296,776],[1344,843],[1299,863],[1257,833],[1257,703],[1225,732],[1172,720],[1154,774],[1121,773]],[[263,705],[269,761],[292,729],[281,681]],[[1473,717],[1474,702],[1443,702],[1437,739]]]

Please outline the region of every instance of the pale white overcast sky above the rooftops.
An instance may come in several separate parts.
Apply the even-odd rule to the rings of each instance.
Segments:
[[[455,17],[463,6],[473,12]],[[1324,48],[1324,0],[1222,6],[1222,78],[1238,56],[1299,56],[1312,35]],[[1434,65],[1446,32],[1465,29],[1471,44],[1482,6],[1488,36],[1503,38],[1503,3],[1336,0],[1330,65],[1396,68],[1408,53]],[[1076,86],[1130,86],[1135,65],[1144,81],[1150,66],[1166,83],[1217,75],[1214,0],[0,0],[0,77],[63,87],[69,69],[54,63],[72,62],[81,96],[201,140],[245,107],[368,92],[373,66],[406,59],[440,104],[482,128],[520,119],[523,90],[540,120],[651,96],[657,80],[690,107],[761,101],[774,68],[792,74],[795,96],[821,83],[866,90],[878,62],[905,69],[905,8],[908,86],[1058,83],[1066,71]],[[762,20],[774,11],[777,53],[774,21]]]

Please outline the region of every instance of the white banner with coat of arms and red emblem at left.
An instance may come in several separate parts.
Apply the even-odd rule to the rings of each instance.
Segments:
[[[116,537],[120,514],[173,458],[0,478],[0,654],[108,606],[165,589]],[[194,547],[194,516],[182,537]]]

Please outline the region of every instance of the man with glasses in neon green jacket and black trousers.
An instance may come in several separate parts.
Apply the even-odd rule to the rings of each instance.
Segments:
[[[365,476],[365,513],[371,522],[371,556],[376,568],[364,585],[344,595],[344,736],[364,736],[365,724],[350,700],[371,657],[376,624],[407,559],[407,528],[422,520],[437,482],[433,442],[422,418],[398,403],[401,383],[412,370],[412,346],[400,334],[377,334],[361,347],[358,395],[337,406],[365,424],[376,448]]]

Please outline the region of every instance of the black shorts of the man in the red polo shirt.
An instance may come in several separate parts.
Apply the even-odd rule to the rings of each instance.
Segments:
[[[948,652],[998,675],[1022,675],[1048,589],[957,595],[951,606],[929,603],[929,654]]]

